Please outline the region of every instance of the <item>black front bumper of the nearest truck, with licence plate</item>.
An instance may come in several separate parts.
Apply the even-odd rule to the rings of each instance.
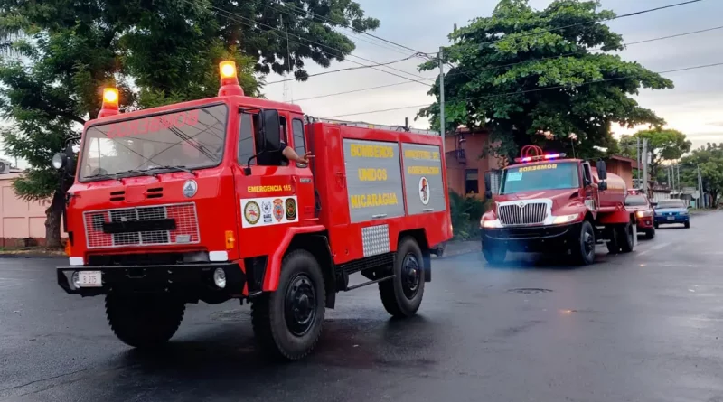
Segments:
[[[213,283],[213,272],[223,269],[226,286]],[[171,292],[186,294],[193,299],[227,299],[243,294],[246,276],[238,262],[174,264],[156,266],[61,266],[57,269],[58,285],[68,294],[95,296],[110,291]],[[76,287],[72,275],[76,271],[99,271],[102,285]]]

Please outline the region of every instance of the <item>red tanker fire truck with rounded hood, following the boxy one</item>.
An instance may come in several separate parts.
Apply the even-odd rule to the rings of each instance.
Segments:
[[[522,148],[518,164],[502,171],[494,195],[485,175],[486,196],[493,198],[480,222],[488,262],[501,263],[508,251],[517,251],[564,255],[587,265],[600,242],[611,253],[633,250],[635,216],[625,209],[624,180],[607,173],[604,161],[593,167],[565,156]]]

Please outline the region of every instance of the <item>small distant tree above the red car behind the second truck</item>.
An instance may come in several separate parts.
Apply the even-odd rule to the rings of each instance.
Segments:
[[[641,147],[643,139],[648,140],[648,151],[651,153],[650,174],[653,178],[660,176],[660,167],[664,161],[677,161],[683,154],[690,152],[692,143],[680,131],[670,128],[656,127],[650,130],[642,130],[633,136],[620,137],[620,150],[631,158],[637,158],[637,141],[640,139]]]

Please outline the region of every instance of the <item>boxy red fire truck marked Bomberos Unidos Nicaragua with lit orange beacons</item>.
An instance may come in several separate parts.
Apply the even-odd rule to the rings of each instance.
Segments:
[[[315,121],[220,67],[217,98],[120,114],[107,89],[77,166],[70,146],[53,157],[74,174],[59,285],[105,295],[134,347],[168,341],[185,304],[248,301],[258,343],[287,360],[314,348],[340,291],[378,284],[391,315],[415,314],[452,237],[440,137]]]

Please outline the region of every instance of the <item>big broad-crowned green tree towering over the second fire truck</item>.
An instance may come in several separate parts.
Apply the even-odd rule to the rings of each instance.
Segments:
[[[575,133],[577,154],[590,155],[593,146],[611,144],[612,123],[662,125],[630,95],[672,88],[671,80],[610,54],[624,49],[623,38],[603,23],[615,14],[599,6],[556,0],[538,11],[527,0],[502,0],[491,16],[450,33],[446,129],[486,126],[496,153],[507,156],[549,141],[536,135],[540,130],[555,135],[554,147],[571,151],[567,138]],[[420,66],[436,68],[437,61]],[[429,94],[438,92],[436,84]],[[434,126],[438,114],[438,102],[419,112]]]

